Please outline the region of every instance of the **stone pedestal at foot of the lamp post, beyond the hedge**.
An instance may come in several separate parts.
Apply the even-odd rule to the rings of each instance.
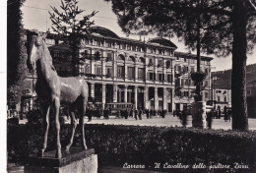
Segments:
[[[206,128],[206,102],[192,103],[192,127]]]

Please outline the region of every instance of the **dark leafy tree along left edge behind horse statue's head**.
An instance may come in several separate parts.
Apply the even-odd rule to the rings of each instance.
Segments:
[[[26,76],[27,51],[21,11],[24,2],[25,0],[8,0],[7,4],[7,101],[9,105],[21,101]]]

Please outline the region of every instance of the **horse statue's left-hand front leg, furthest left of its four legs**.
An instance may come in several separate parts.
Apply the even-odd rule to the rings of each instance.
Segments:
[[[41,113],[42,113],[42,119],[43,119],[43,130],[44,130],[44,136],[43,136],[43,144],[41,149],[38,151],[38,156],[43,156],[43,152],[47,147],[47,138],[48,138],[48,130],[49,130],[49,110],[50,105],[45,102],[40,103]]]

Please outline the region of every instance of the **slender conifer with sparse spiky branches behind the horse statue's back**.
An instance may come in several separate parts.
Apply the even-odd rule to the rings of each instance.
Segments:
[[[50,20],[52,22],[53,31],[58,34],[68,37],[69,47],[72,54],[72,67],[73,75],[76,76],[76,64],[78,61],[78,48],[80,44],[80,38],[83,38],[90,34],[89,28],[95,24],[90,19],[96,15],[94,11],[90,15],[86,15],[82,20],[79,20],[79,15],[85,12],[85,10],[78,9],[77,0],[61,0],[61,10],[51,7],[53,13],[50,13]]]

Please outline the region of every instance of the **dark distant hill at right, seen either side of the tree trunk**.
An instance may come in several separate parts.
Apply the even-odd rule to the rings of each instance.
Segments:
[[[217,77],[216,81],[213,81],[214,87],[231,88],[231,72],[232,70],[212,72],[212,78]],[[246,66],[246,82],[256,81],[256,64]]]

